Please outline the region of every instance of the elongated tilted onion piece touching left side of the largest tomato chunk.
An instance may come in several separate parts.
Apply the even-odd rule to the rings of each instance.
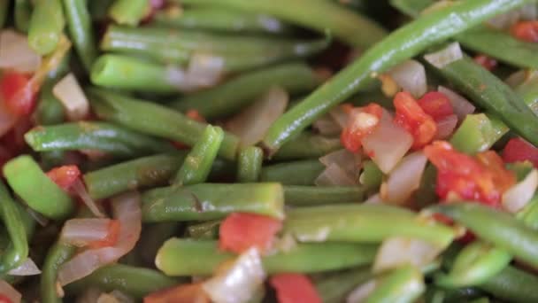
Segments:
[[[427,158],[422,151],[405,156],[388,175],[386,196],[381,195],[381,198],[389,204],[404,204],[419,189],[426,163]]]

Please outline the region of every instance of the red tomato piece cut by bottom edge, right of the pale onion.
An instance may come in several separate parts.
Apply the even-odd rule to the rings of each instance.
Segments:
[[[318,291],[307,276],[280,274],[269,282],[276,290],[279,303],[321,303]]]

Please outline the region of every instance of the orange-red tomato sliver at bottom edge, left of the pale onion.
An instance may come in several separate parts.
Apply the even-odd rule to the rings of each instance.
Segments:
[[[144,297],[144,303],[210,303],[201,283],[181,284]]]

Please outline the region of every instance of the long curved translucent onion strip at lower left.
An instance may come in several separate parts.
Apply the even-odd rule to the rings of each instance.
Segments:
[[[109,247],[88,249],[62,265],[58,282],[63,286],[88,276],[97,268],[119,260],[135,247],[142,229],[140,195],[131,191],[112,199],[114,217],[119,220],[118,243]]]

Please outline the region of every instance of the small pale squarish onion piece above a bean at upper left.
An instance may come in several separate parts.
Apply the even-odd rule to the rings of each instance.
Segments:
[[[82,91],[81,85],[79,85],[73,73],[65,75],[52,88],[52,94],[64,105],[67,119],[78,121],[88,116],[88,98],[84,95],[84,91]]]

